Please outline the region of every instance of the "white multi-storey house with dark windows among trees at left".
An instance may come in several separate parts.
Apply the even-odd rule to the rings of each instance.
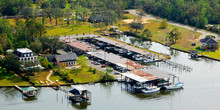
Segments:
[[[15,51],[15,54],[18,56],[19,61],[37,61],[37,55],[35,55],[32,50],[28,48],[18,48]]]

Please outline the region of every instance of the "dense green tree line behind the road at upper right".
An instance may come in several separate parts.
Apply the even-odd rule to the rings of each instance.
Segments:
[[[199,28],[220,24],[219,0],[139,0],[139,3],[148,13]]]

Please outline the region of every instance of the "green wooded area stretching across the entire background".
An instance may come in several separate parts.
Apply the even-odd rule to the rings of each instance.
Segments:
[[[36,1],[36,2],[34,2]],[[0,54],[7,49],[28,47],[40,53],[54,45],[41,38],[46,33],[45,22],[72,25],[92,22],[102,27],[117,23],[125,9],[139,8],[167,19],[205,28],[208,23],[220,23],[220,0],[1,0],[0,1]],[[4,19],[13,16],[14,25]],[[39,18],[40,17],[40,21]],[[23,20],[24,18],[25,20]],[[65,18],[65,19],[63,19]],[[71,24],[72,23],[72,24]],[[134,23],[133,23],[134,24]],[[131,24],[132,25],[132,24]],[[136,25],[132,25],[133,27]],[[137,25],[139,26],[139,25]],[[135,27],[139,29],[141,27]],[[219,29],[211,29],[219,32]],[[48,38],[47,38],[48,39]],[[57,44],[57,39],[52,40]],[[44,42],[44,43],[42,43]],[[50,43],[49,43],[50,44]],[[40,48],[43,45],[43,48]]]

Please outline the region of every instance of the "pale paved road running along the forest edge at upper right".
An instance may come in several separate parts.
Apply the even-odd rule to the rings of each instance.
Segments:
[[[137,10],[127,10],[129,11],[131,14],[133,15],[136,15],[138,16],[138,11]],[[153,15],[150,15],[150,14],[147,14],[145,13],[144,15],[145,18],[150,18],[150,19],[156,19],[156,20],[163,20],[162,18],[159,18],[157,19],[157,17],[153,16]],[[191,26],[188,26],[188,25],[184,25],[184,24],[180,24],[180,23],[177,23],[177,22],[174,22],[174,21],[167,21],[169,24],[172,24],[172,25],[175,25],[175,26],[179,26],[179,27],[182,27],[182,28],[186,28],[186,29],[189,29],[189,30],[192,30],[194,31],[195,30],[195,27],[191,27]],[[202,29],[197,29],[197,32],[201,33],[202,35],[200,36],[200,39],[201,38],[205,38],[205,36],[207,35],[213,35],[215,36],[217,39],[220,39],[220,36],[218,36],[218,34],[215,34],[215,33],[212,33],[212,32],[208,32],[206,30],[202,30]]]

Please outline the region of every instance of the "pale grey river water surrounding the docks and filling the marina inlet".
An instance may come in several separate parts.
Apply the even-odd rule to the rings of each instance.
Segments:
[[[184,82],[184,89],[152,95],[131,94],[120,83],[86,85],[92,92],[91,103],[71,104],[65,93],[40,88],[36,99],[26,100],[14,88],[0,88],[0,110],[219,110],[220,62],[199,58],[190,59],[187,53],[170,50],[158,43],[144,43],[132,37],[117,37],[122,41],[157,52],[170,54],[171,61],[186,65],[192,71],[173,68],[165,63],[151,65],[172,72]],[[65,87],[70,89],[70,87]]]

